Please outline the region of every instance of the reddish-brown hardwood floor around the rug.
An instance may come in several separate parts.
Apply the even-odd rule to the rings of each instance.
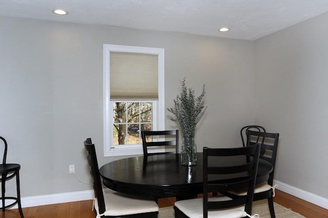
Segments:
[[[328,210],[276,189],[274,201],[308,218],[328,218]],[[159,207],[173,206],[175,198],[158,200]],[[94,218],[92,201],[78,201],[23,208],[25,218]],[[0,211],[0,218],[19,218],[18,209]]]

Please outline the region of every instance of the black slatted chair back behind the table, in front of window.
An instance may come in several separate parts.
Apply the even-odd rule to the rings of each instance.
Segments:
[[[149,153],[148,148],[155,146],[175,147],[175,153],[179,153],[179,130],[141,131],[141,137],[142,148],[144,149],[144,156],[172,153]]]

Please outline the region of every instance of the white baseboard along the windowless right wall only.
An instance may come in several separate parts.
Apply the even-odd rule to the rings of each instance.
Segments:
[[[279,182],[277,180],[274,180],[273,184],[278,184],[277,189],[279,189],[283,192],[289,193],[290,195],[300,198],[304,201],[308,201],[312,204],[315,204],[315,205],[318,205],[325,209],[328,209],[328,199],[326,199],[326,198],[315,195],[308,191],[304,191],[302,189],[296,188],[296,187],[288,185],[286,183]]]

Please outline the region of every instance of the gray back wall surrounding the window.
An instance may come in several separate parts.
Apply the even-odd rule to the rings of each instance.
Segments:
[[[240,146],[240,127],[253,123],[252,41],[0,17],[0,135],[9,143],[7,162],[22,165],[23,197],[92,189],[68,170],[75,164],[76,176],[90,183],[87,137],[99,165],[122,158],[103,157],[103,44],[164,48],[166,107],[179,79],[186,76],[198,94],[206,84],[199,151]],[[170,115],[166,128],[177,128]]]

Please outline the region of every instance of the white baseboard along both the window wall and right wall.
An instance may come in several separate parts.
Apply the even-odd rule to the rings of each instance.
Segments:
[[[314,195],[308,191],[304,191],[302,189],[293,187],[286,183],[274,180],[274,184],[278,184],[277,189],[289,193],[292,196],[300,198],[304,201],[308,201],[312,204],[318,205],[325,209],[328,209],[328,199],[320,197],[318,195]],[[110,190],[110,189],[104,189]],[[22,207],[35,207],[41,205],[48,204],[60,204],[74,201],[85,201],[91,200],[94,197],[93,190],[87,191],[76,191],[76,192],[66,192],[66,193],[57,193],[53,195],[43,195],[43,196],[32,196],[32,197],[24,197],[21,199]],[[17,205],[12,208],[17,208]]]

